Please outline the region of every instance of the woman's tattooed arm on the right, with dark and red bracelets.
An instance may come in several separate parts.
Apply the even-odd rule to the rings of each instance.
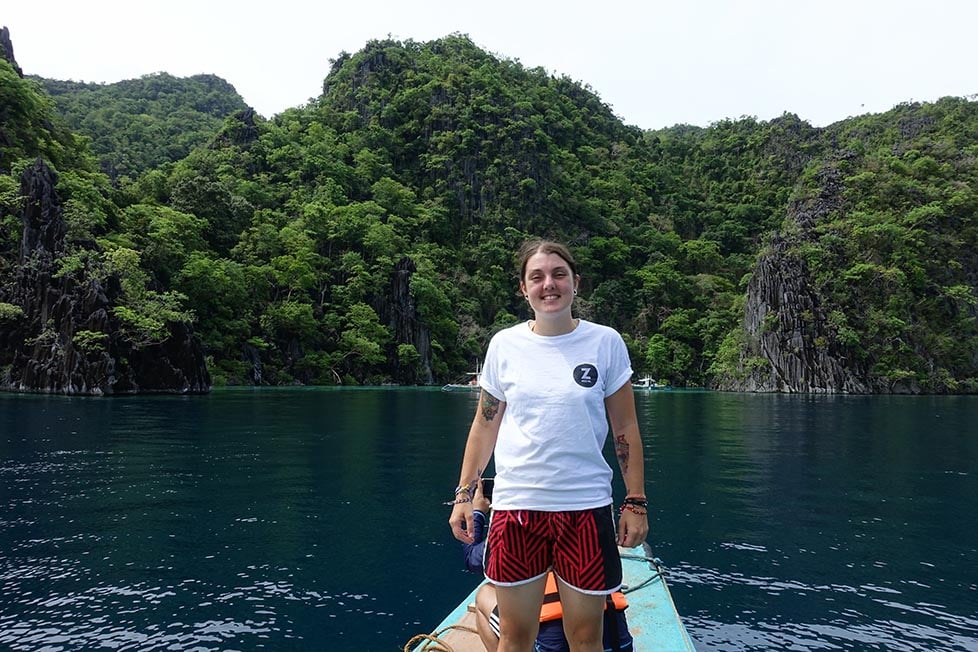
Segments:
[[[631,383],[625,383],[606,398],[605,408],[611,422],[615,456],[625,481],[625,495],[645,499],[645,456],[635,413],[635,390]],[[622,510],[618,519],[618,545],[633,548],[645,541],[649,533],[649,519],[647,514],[640,512],[647,510],[638,507]]]

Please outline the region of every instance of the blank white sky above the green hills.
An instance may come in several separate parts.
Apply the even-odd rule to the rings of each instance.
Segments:
[[[9,1],[25,74],[115,82],[212,73],[265,117],[317,97],[371,39],[468,34],[588,84],[659,129],[788,111],[815,126],[978,93],[973,0]]]

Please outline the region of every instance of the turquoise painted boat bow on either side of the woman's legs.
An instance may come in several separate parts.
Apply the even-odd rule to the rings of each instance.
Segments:
[[[663,571],[654,560],[649,545],[620,548],[619,552],[624,574],[622,591],[628,598],[625,616],[635,642],[635,652],[695,652],[693,641],[669,593]],[[443,650],[445,648],[439,646],[440,641],[444,641],[455,652],[484,652],[479,637],[471,631],[474,628],[472,605],[478,590],[476,586],[445,616],[428,639],[405,649],[413,652]]]

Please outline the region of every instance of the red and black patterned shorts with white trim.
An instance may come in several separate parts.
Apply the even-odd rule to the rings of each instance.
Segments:
[[[484,559],[493,584],[517,586],[546,574],[584,593],[621,587],[621,558],[611,506],[579,512],[497,510]]]

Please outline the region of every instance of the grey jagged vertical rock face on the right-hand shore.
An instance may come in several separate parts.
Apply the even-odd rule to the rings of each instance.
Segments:
[[[774,236],[747,287],[746,342],[736,376],[717,388],[731,391],[847,393],[875,391],[865,369],[830,332],[805,261],[796,253],[816,221],[842,208],[841,174],[831,165],[819,175],[820,193],[789,209],[790,235]]]

